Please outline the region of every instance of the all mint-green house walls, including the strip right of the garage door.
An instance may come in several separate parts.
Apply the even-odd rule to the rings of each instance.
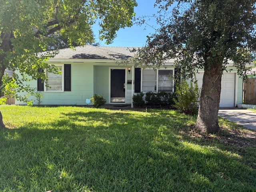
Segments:
[[[86,60],[62,60],[60,62],[54,61],[55,64],[71,64],[71,91],[64,92],[44,92],[40,91],[43,98],[41,98],[41,105],[86,105],[86,99],[91,98],[93,94],[103,94],[104,98],[109,103],[110,96],[110,69],[122,68],[126,69],[126,103],[131,103],[132,100],[132,84],[128,84],[128,80],[132,80],[132,65],[128,66],[118,65],[113,61],[98,62],[86,61]],[[53,64],[54,64],[53,63]],[[170,63],[168,68],[173,68],[173,63]],[[162,66],[164,67],[164,66]],[[161,67],[161,68],[162,68]],[[128,72],[130,68],[130,74]],[[229,70],[235,73],[234,67],[228,66]],[[203,70],[198,70],[203,71]],[[37,81],[32,80],[28,82],[31,87],[37,87]],[[235,106],[242,104],[243,102],[243,82],[242,79],[236,75],[236,98]],[[20,93],[26,95],[26,93]],[[36,98],[30,96],[31,100],[34,100],[33,104],[37,105]],[[15,100],[15,104],[26,104]],[[89,105],[92,105],[90,103]]]

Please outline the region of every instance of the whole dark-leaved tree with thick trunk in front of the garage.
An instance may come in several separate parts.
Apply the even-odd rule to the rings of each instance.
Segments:
[[[171,9],[173,3],[175,6]],[[156,0],[160,29],[139,50],[138,61],[161,66],[176,58],[183,74],[204,69],[196,127],[219,131],[221,75],[230,60],[246,76],[256,48],[256,0]],[[171,12],[170,12],[171,9]]]

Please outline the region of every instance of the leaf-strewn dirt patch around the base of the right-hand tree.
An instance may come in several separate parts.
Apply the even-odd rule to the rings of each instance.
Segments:
[[[240,128],[221,127],[218,134],[201,134],[194,126],[180,130],[183,138],[203,146],[216,146],[217,148],[239,154],[244,164],[256,168],[256,132]]]

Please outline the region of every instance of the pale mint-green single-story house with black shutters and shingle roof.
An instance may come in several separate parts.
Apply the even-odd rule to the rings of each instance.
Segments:
[[[32,80],[29,84],[42,94],[42,105],[86,105],[86,99],[93,94],[103,94],[107,104],[132,104],[132,95],[138,92],[174,92],[174,60],[166,61],[164,67],[156,70],[117,62],[133,57],[134,50],[91,45],[62,49],[47,61],[62,70],[60,75],[45,71],[50,87],[41,80]],[[222,76],[220,107],[242,104],[243,81],[232,64],[227,68],[230,69],[231,72],[224,72]],[[199,87],[202,76],[203,71],[196,74]],[[25,103],[15,100],[15,104]],[[36,100],[34,104],[38,104]]]

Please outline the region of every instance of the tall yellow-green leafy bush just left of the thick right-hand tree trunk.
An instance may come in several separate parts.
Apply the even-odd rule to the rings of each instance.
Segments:
[[[198,112],[200,90],[196,82],[182,80],[176,87],[177,98],[174,99],[175,107],[185,114],[194,115]]]

